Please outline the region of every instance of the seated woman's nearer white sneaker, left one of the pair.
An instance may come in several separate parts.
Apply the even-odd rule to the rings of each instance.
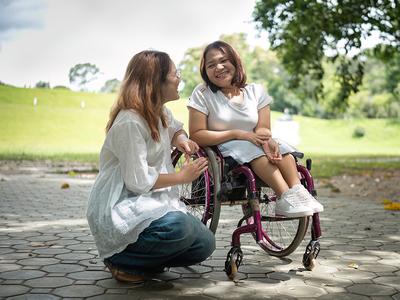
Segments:
[[[312,216],[313,210],[303,205],[293,189],[284,192],[280,199],[276,201],[275,215],[282,215],[287,218],[298,218]]]

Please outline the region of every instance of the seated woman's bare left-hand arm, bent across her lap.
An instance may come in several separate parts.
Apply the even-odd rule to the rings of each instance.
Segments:
[[[190,138],[200,146],[213,146],[230,140],[247,140],[256,145],[261,145],[263,142],[262,136],[245,130],[208,130],[207,116],[191,107],[189,107],[189,133]]]

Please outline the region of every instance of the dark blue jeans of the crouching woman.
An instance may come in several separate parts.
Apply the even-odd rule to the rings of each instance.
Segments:
[[[196,217],[169,212],[153,221],[138,240],[104,261],[121,271],[143,275],[165,267],[202,262],[215,250],[214,234]]]

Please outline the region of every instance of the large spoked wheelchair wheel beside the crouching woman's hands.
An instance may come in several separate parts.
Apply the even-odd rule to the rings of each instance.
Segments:
[[[207,151],[208,152],[208,151]],[[192,160],[207,157],[203,150],[191,156]],[[210,157],[208,170],[196,180],[188,184],[178,185],[179,198],[186,204],[189,212],[199,218],[214,234],[217,230],[221,205],[217,199],[220,176],[216,159]],[[185,162],[185,157],[178,150],[172,153],[172,164],[179,171]],[[214,172],[214,170],[216,170]]]

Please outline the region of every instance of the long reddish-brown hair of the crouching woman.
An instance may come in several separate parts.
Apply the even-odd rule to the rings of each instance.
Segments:
[[[165,52],[146,50],[132,57],[126,68],[119,95],[110,112],[106,126],[108,132],[121,110],[135,110],[147,122],[151,137],[160,141],[158,123],[167,127],[163,113],[161,84],[167,79],[171,59]]]

